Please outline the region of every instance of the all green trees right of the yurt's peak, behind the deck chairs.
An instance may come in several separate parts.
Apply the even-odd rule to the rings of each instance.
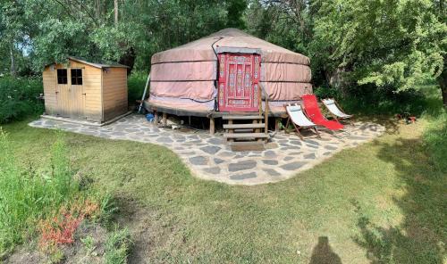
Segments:
[[[249,29],[310,57],[314,83],[394,92],[437,79],[447,105],[443,0],[262,0]]]

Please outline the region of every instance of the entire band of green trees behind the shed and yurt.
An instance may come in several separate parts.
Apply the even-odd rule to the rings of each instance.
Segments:
[[[148,70],[152,54],[234,27],[308,55],[316,86],[399,93],[437,79],[447,105],[443,0],[16,0],[0,11],[2,72],[68,55]]]

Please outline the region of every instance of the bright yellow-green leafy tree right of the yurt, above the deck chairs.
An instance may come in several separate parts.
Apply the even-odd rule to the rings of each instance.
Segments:
[[[429,0],[331,0],[318,4],[313,54],[329,78],[350,84],[417,89],[441,79],[447,26]],[[324,50],[323,47],[326,47]],[[324,52],[318,54],[318,50]]]

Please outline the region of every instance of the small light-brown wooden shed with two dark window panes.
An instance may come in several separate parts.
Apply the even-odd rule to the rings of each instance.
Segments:
[[[69,57],[43,71],[47,115],[103,123],[128,111],[127,66]]]

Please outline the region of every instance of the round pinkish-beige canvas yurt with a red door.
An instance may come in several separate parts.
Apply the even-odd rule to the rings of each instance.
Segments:
[[[284,104],[299,103],[301,95],[312,92],[310,81],[307,56],[239,29],[223,29],[154,54],[145,106],[207,117],[211,125],[214,118],[266,113],[266,108],[268,116],[282,117]]]

